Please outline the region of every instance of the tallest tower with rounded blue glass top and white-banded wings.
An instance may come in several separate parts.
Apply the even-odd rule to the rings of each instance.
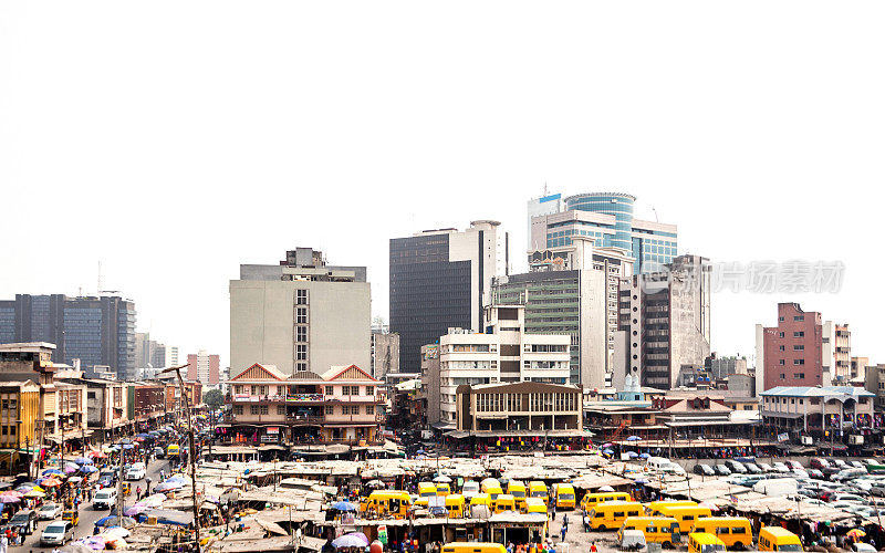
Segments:
[[[635,201],[634,196],[621,192],[579,194],[546,205],[532,200],[529,202],[529,249],[556,248],[569,244],[573,237],[590,237],[597,247],[627,251],[637,273],[659,270],[676,257],[676,226],[634,218]],[[560,207],[559,211],[553,211],[555,206]],[[533,211],[545,208],[551,212],[533,216]]]

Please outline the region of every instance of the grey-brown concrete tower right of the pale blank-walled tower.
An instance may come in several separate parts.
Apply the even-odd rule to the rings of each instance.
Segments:
[[[642,386],[670,389],[684,366],[702,367],[710,355],[710,264],[679,255],[667,271],[622,281],[614,386],[625,376]]]

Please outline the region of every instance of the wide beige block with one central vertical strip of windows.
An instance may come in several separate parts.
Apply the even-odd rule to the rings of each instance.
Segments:
[[[371,292],[365,267],[327,265],[298,248],[278,265],[240,265],[230,281],[230,364],[292,375],[371,364]]]

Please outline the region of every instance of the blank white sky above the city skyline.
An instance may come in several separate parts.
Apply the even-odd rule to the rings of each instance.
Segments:
[[[778,301],[885,362],[882,2],[3,2],[0,298],[122,290],[226,362],[228,281],[312,246],[618,190],[714,261],[837,259],[840,294],[720,293],[714,349]],[[874,279],[871,281],[870,279]],[[871,284],[872,282],[872,284]]]

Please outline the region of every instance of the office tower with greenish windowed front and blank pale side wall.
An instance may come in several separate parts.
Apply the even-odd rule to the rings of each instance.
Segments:
[[[587,237],[533,251],[529,272],[494,280],[494,302],[525,306],[525,332],[564,333],[570,382],[586,389],[611,384],[618,331],[620,281],[633,274],[633,259],[616,248],[596,248]]]

